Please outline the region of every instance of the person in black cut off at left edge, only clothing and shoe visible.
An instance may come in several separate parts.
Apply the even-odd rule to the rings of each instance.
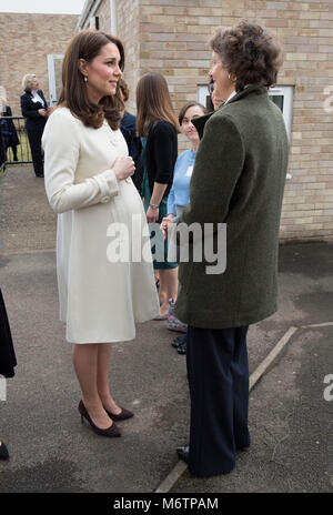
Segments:
[[[4,300],[0,289],[0,381],[3,377],[13,377],[16,375],[17,356],[12,343],[10,325],[8,321]],[[1,401],[1,398],[0,398]],[[3,442],[0,441],[0,460],[8,460],[9,452]]]

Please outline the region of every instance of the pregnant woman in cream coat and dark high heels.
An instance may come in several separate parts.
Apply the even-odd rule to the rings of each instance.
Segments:
[[[110,418],[133,415],[109,390],[111,342],[134,339],[135,322],[159,314],[149,231],[130,178],[134,163],[118,128],[123,61],[117,38],[77,34],[63,61],[59,107],[42,139],[46,190],[58,213],[60,319],[74,343],[79,412],[105,436],[120,435]]]

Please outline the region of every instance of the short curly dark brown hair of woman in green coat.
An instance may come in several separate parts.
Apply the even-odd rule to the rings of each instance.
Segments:
[[[235,78],[236,91],[248,84],[266,88],[276,84],[282,49],[259,24],[242,21],[228,30],[220,28],[210,44],[223,67]]]

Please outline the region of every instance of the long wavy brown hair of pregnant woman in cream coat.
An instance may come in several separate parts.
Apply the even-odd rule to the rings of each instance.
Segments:
[[[94,129],[102,125],[104,118],[113,130],[119,129],[120,111],[124,105],[119,92],[119,83],[114,97],[103,97],[98,105],[92,103],[88,98],[84,77],[79,70],[79,60],[91,62],[99,55],[101,48],[110,42],[118,47],[119,68],[123,71],[124,51],[121,41],[99,30],[82,30],[75,34],[69,42],[62,63],[62,91],[58,105],[67,107],[84,125]]]

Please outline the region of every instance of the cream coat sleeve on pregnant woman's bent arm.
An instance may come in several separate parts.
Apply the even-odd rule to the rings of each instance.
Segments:
[[[80,156],[80,134],[75,120],[68,113],[54,112],[42,137],[44,180],[48,200],[56,213],[107,203],[119,192],[113,170],[74,184]]]

